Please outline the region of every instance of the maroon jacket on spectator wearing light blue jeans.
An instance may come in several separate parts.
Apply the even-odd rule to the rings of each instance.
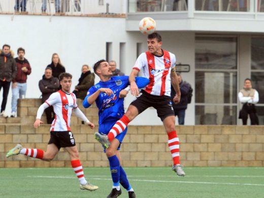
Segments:
[[[17,75],[14,82],[18,83],[26,83],[27,75],[31,74],[31,67],[27,59],[19,60],[15,58],[16,65],[17,65]],[[27,72],[23,72],[22,68],[26,67]]]

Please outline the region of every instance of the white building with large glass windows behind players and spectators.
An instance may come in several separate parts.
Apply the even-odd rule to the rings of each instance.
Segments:
[[[102,58],[116,60],[129,75],[137,56],[147,50],[138,23],[149,16],[157,23],[162,47],[176,54],[178,64],[190,65],[190,71],[182,73],[194,89],[186,125],[241,124],[237,94],[245,78],[252,78],[259,92],[257,111],[260,124],[264,122],[264,3],[259,0],[189,0],[187,4],[185,0],[82,0],[79,9],[68,1],[65,15],[54,15],[53,3],[47,15],[40,14],[41,1],[37,0],[28,1],[28,14],[17,14],[13,13],[15,1],[11,2],[0,1],[0,11],[6,13],[0,15],[0,45],[10,44],[14,51],[25,48],[32,67],[26,97],[41,95],[38,81],[54,52],[73,74],[73,84],[82,64],[92,65]],[[108,13],[117,14],[98,15],[107,12],[107,4]],[[11,95],[10,91],[7,111]],[[127,97],[126,107],[131,100],[132,96]],[[155,110],[148,109],[131,124],[162,123]]]

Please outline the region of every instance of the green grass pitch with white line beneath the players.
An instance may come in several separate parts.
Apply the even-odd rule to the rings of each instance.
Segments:
[[[86,168],[99,186],[80,190],[70,168],[0,169],[0,197],[106,197],[112,188],[109,168]],[[184,168],[177,177],[166,168],[125,168],[137,197],[264,197],[264,168]],[[122,188],[121,197],[128,197]]]

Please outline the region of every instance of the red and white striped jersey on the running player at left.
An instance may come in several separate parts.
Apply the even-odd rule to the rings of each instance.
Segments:
[[[51,124],[50,131],[71,130],[72,112],[73,109],[77,108],[75,94],[59,90],[52,93],[45,103],[52,106],[55,112],[55,119]]]

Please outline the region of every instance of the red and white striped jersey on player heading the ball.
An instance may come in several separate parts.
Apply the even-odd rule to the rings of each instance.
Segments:
[[[176,57],[173,53],[162,50],[163,56],[150,52],[140,54],[133,69],[142,70],[143,77],[149,78],[144,89],[152,95],[171,96],[171,69],[175,67]]]

